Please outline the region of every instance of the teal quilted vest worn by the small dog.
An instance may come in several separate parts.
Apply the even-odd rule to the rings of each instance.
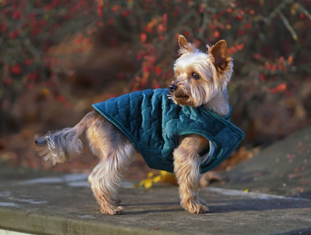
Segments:
[[[135,91],[92,106],[123,132],[150,168],[173,172],[173,151],[181,135],[202,135],[210,149],[201,156],[201,173],[223,162],[244,138],[230,112],[221,117],[204,107],[180,107],[168,89]]]

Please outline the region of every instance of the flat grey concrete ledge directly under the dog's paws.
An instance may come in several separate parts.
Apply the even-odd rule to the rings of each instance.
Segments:
[[[311,224],[311,202],[304,198],[207,188],[200,195],[210,213],[193,215],[179,205],[176,187],[142,190],[131,188],[131,183],[120,190],[124,214],[101,215],[86,177],[40,175],[2,181],[0,228],[60,235],[282,234],[308,229]]]

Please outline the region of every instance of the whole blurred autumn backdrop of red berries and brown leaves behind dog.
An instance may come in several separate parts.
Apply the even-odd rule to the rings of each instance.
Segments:
[[[52,166],[35,152],[34,135],[74,126],[95,102],[167,87],[179,34],[202,50],[225,39],[234,59],[231,122],[246,136],[216,171],[311,124],[310,1],[0,0],[0,7],[0,164],[91,172],[98,159],[85,138],[80,156]],[[126,178],[150,171],[157,173],[137,154]]]

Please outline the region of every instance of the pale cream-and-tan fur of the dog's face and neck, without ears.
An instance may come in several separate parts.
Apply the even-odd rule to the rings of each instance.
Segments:
[[[210,47],[207,46],[207,49]],[[204,105],[207,109],[225,116],[229,112],[226,87],[233,71],[232,59],[229,57],[226,67],[219,69],[213,64],[211,53],[199,51],[192,43],[181,48],[179,54],[181,56],[174,63],[175,79],[172,82],[178,89],[169,95],[169,99],[179,105]],[[193,72],[198,73],[201,78],[191,78]]]

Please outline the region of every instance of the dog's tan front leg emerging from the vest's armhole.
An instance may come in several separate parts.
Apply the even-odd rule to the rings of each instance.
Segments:
[[[200,137],[199,137],[200,138]],[[191,213],[206,213],[208,207],[202,205],[198,198],[200,181],[200,156],[204,141],[197,135],[183,137],[177,149],[174,150],[174,172],[179,183],[180,204]]]

